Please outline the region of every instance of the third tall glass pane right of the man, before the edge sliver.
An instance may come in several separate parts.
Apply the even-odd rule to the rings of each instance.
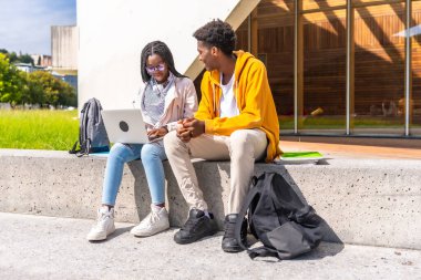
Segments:
[[[404,4],[355,11],[353,134],[403,135]]]

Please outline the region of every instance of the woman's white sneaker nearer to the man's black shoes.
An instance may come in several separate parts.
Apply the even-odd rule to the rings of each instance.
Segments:
[[[141,224],[130,231],[137,237],[153,236],[170,228],[168,212],[165,207],[151,205],[151,212],[141,221]]]

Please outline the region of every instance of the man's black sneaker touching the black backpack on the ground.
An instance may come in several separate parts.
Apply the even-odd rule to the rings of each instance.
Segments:
[[[223,250],[226,252],[239,252],[243,251],[243,248],[239,246],[237,239],[235,238],[235,224],[237,221],[238,214],[230,214],[225,216],[224,220],[224,238],[223,238]],[[247,242],[247,221],[243,219],[242,232],[240,232],[242,242],[246,246]]]

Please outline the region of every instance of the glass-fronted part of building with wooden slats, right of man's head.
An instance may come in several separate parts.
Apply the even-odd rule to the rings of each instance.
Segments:
[[[421,136],[421,2],[263,0],[238,29],[281,134]]]

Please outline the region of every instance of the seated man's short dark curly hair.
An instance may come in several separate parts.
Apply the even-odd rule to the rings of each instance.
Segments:
[[[196,32],[193,33],[193,37],[209,46],[220,49],[226,55],[233,53],[237,41],[233,28],[219,19],[213,20],[197,29]]]

